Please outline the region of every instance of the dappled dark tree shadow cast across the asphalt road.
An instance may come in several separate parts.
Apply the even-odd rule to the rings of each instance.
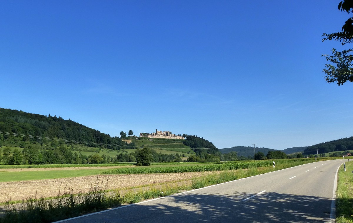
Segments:
[[[265,192],[234,192],[234,196],[184,193],[129,207],[129,210],[105,212],[107,223],[117,222],[327,222],[331,200]],[[170,203],[169,201],[173,201]],[[125,208],[124,208],[125,209]],[[114,211],[112,211],[114,212]],[[115,216],[112,218],[110,215]],[[93,217],[93,216],[91,216]]]

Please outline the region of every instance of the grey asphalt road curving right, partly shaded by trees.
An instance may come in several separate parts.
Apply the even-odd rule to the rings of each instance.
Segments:
[[[305,164],[59,222],[330,222],[336,172],[347,161]]]

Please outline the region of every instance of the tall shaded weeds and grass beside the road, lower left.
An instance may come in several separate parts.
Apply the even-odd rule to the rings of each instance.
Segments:
[[[22,203],[12,204],[7,201],[1,210],[1,223],[46,223],[60,219],[82,215],[83,213],[107,209],[122,203],[119,194],[106,195],[106,184],[97,177],[88,192],[73,194],[73,190],[65,188],[56,198],[46,200],[44,197],[28,198]]]

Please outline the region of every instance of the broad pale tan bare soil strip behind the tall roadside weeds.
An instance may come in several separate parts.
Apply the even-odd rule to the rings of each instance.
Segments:
[[[74,167],[73,167],[74,168]],[[78,167],[85,168],[85,167]],[[116,168],[116,167],[114,167]],[[57,168],[55,168],[57,169]],[[65,168],[67,170],[67,168]],[[73,193],[87,192],[96,186],[97,177],[108,190],[126,189],[134,186],[160,184],[170,181],[190,180],[202,176],[203,172],[193,173],[160,173],[160,174],[120,174],[98,175],[85,177],[71,177],[62,179],[27,180],[0,182],[0,202],[7,200],[22,200],[28,198],[55,197],[62,195],[69,189]]]

